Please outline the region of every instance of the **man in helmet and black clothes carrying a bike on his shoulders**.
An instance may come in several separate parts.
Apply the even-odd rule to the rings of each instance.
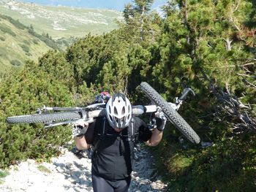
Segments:
[[[162,139],[166,118],[160,111],[155,117],[157,128],[150,131],[143,120],[132,116],[129,99],[116,93],[106,104],[106,117],[95,118],[90,125],[83,123],[88,129],[75,137],[75,145],[79,150],[94,148],[91,177],[95,192],[128,191],[136,142],[156,146]]]

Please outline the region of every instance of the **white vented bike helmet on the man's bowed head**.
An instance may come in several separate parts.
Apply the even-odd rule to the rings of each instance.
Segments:
[[[113,128],[125,128],[132,119],[132,105],[122,93],[116,93],[106,105],[108,123]]]

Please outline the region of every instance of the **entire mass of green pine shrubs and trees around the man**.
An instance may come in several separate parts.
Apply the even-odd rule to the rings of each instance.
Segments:
[[[7,116],[31,113],[43,104],[83,106],[99,91],[121,91],[134,104],[148,104],[138,88],[146,81],[167,101],[191,87],[196,96],[189,96],[179,112],[203,142],[214,144],[203,148],[185,140],[181,145],[181,133],[167,124],[162,142],[153,150],[170,191],[255,189],[255,132],[235,134],[233,125],[242,120],[225,111],[211,89],[247,104],[249,110],[237,112],[255,118],[252,1],[173,0],[164,9],[165,18],[149,12],[151,2],[127,5],[126,23],[119,23],[118,30],[97,37],[89,34],[65,53],[49,51],[39,64],[29,62],[2,82],[1,167],[27,157],[49,158],[69,139],[67,128],[9,126],[4,123]],[[29,31],[53,42],[47,34],[35,34],[33,26]]]

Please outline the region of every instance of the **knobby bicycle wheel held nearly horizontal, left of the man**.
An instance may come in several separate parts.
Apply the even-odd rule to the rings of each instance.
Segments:
[[[75,120],[80,118],[81,115],[78,112],[53,112],[48,114],[12,116],[7,118],[7,123],[50,123],[61,120]]]

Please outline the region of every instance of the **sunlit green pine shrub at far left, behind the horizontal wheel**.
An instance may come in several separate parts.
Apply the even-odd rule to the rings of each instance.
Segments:
[[[55,73],[46,72],[29,62],[23,71],[12,73],[1,85],[1,167],[24,158],[50,158],[56,155],[59,145],[70,139],[67,127],[45,129],[42,125],[10,126],[5,123],[8,116],[34,113],[42,105],[72,106],[74,103],[69,88],[54,76]]]

